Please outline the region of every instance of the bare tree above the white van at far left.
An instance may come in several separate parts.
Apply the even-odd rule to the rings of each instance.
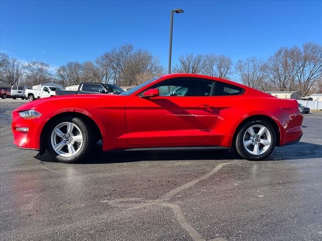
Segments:
[[[5,79],[4,83],[8,85],[15,85],[19,83],[22,76],[23,65],[15,58],[8,59],[5,66]]]

